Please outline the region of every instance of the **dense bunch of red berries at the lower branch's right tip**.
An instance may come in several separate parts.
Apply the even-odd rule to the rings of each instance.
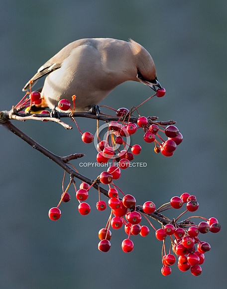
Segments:
[[[186,203],[187,210],[180,214],[180,216],[187,211],[194,212],[199,207],[195,195],[183,193],[180,197],[172,197],[170,202],[161,206],[158,211],[161,212],[169,208],[179,209],[184,203]],[[210,244],[201,241],[199,236],[202,236],[202,234],[209,231],[218,233],[221,230],[221,226],[214,217],[206,219],[201,216],[191,216],[182,222],[178,222],[179,217],[173,219],[172,222],[163,225],[162,228],[156,230],[155,233],[156,238],[163,241],[163,267],[161,272],[164,276],[171,274],[170,266],[178,259],[177,266],[180,271],[185,272],[190,269],[192,275],[199,276],[202,273],[200,265],[202,265],[205,260],[204,254],[211,249]],[[202,218],[204,221],[196,225],[191,221],[192,218]],[[170,237],[171,248],[176,257],[170,253],[171,248],[169,249],[169,253],[166,252],[165,241],[167,236]]]

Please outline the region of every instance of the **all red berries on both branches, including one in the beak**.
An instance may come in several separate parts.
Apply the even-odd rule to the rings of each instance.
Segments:
[[[26,94],[27,95],[27,94]],[[25,99],[26,95],[15,106],[19,111],[23,108],[30,110],[31,104],[40,104],[42,99],[39,92],[31,92],[29,99]],[[154,96],[162,97],[165,95],[165,89],[157,90]],[[153,96],[150,96],[150,99]],[[147,99],[147,100],[148,100]],[[76,120],[73,117],[75,111],[76,96],[72,96],[73,109],[71,103],[67,99],[61,99],[58,103],[58,107],[61,111],[71,111],[70,117],[74,120],[78,130],[82,135],[82,141],[84,143],[92,143],[94,141],[94,135],[90,132],[82,133],[78,127]],[[146,102],[145,100],[144,102]],[[140,105],[142,105],[142,102]],[[154,143],[154,151],[156,153],[161,152],[162,155],[170,157],[173,155],[176,147],[182,142],[183,137],[178,128],[174,125],[175,122],[165,123],[157,121],[155,117],[145,117],[138,113],[138,105],[134,109],[128,110],[127,108],[119,108],[116,110],[117,120],[110,121],[107,127],[106,139],[101,140],[99,134],[97,138],[99,142],[97,144],[97,162],[100,164],[107,163],[110,159],[113,160],[112,166],[107,171],[102,172],[95,181],[91,181],[89,184],[83,182],[80,185],[79,190],[76,189],[75,181],[71,176],[71,180],[66,190],[64,190],[63,178],[63,193],[57,207],[53,207],[49,210],[49,218],[53,221],[58,220],[61,217],[61,210],[59,206],[61,202],[68,202],[71,199],[70,194],[67,192],[69,187],[73,184],[76,192],[76,199],[79,201],[78,211],[82,215],[88,215],[91,211],[91,206],[85,202],[89,197],[89,190],[94,187],[99,191],[99,200],[96,203],[96,208],[99,211],[110,208],[110,217],[107,220],[107,224],[99,231],[100,242],[98,249],[102,252],[108,252],[111,248],[112,232],[110,228],[120,229],[124,227],[124,231],[127,237],[122,241],[121,248],[123,252],[129,253],[133,250],[134,244],[132,242],[132,236],[141,235],[143,237],[149,234],[149,228],[146,225],[141,224],[142,218],[144,218],[148,224],[155,230],[155,236],[158,240],[163,242],[162,246],[162,264],[161,273],[164,276],[171,274],[171,266],[175,264],[178,259],[177,266],[180,271],[188,271],[190,269],[192,275],[199,276],[202,272],[200,265],[204,263],[205,253],[211,249],[209,243],[201,241],[203,234],[211,231],[212,233],[218,233],[221,226],[218,220],[214,217],[206,219],[201,216],[190,216],[185,220],[179,221],[186,212],[195,212],[199,203],[195,195],[189,193],[183,193],[181,196],[174,196],[170,202],[163,204],[156,209],[155,204],[152,201],[145,201],[142,206],[136,205],[135,197],[131,194],[124,194],[115,184],[115,180],[118,180],[121,175],[121,169],[126,169],[130,166],[130,161],[133,160],[134,155],[138,155],[141,151],[139,144],[130,145],[130,137],[138,130],[143,130],[143,140],[147,143]],[[138,117],[132,115],[134,111],[137,111]],[[49,113],[43,111],[41,113]],[[132,117],[133,116],[133,117]],[[47,120],[44,120],[47,121]],[[164,140],[160,136],[160,132],[164,133],[168,138]],[[120,149],[120,146],[123,148]],[[128,150],[131,150],[129,152]],[[118,166],[114,166],[114,160],[118,163]],[[83,180],[83,178],[82,178]],[[100,184],[108,185],[108,191],[102,188],[108,199],[108,204],[101,200],[101,187]],[[120,196],[119,196],[120,194]],[[169,219],[163,215],[163,211],[168,209],[180,209],[186,204],[186,210],[174,219]],[[203,221],[198,225],[192,221],[194,218],[202,218]],[[156,220],[162,224],[162,228],[155,229],[150,219]],[[170,238],[170,248],[167,250],[167,236]]]

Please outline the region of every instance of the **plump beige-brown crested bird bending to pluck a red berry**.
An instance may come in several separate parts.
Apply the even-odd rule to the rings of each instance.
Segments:
[[[84,38],[69,43],[42,65],[22,91],[46,76],[40,89],[41,107],[54,109],[60,99],[72,103],[75,112],[89,111],[126,81],[161,89],[149,52],[132,39]]]

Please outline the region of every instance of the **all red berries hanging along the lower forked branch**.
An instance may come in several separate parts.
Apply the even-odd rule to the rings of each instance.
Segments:
[[[119,170],[119,168],[117,168]],[[102,252],[108,252],[111,248],[112,232],[113,229],[120,229],[124,227],[124,231],[127,234],[121,243],[123,252],[129,253],[133,250],[134,244],[131,240],[133,235],[141,235],[143,237],[149,234],[149,228],[146,225],[142,225],[142,217],[148,221],[151,227],[155,230],[155,236],[158,240],[163,242],[162,246],[162,263],[163,267],[161,273],[164,276],[171,274],[171,266],[178,260],[177,266],[179,270],[185,272],[189,269],[192,275],[199,276],[202,272],[200,265],[204,263],[205,253],[210,251],[211,246],[209,243],[200,240],[200,235],[203,235],[209,231],[212,233],[218,233],[221,226],[218,220],[214,217],[206,219],[201,216],[190,216],[189,218],[178,221],[180,217],[186,212],[194,212],[198,209],[199,203],[195,195],[189,193],[183,193],[180,197],[174,196],[169,203],[165,203],[156,209],[155,204],[152,201],[146,201],[142,206],[136,206],[135,197],[131,194],[124,194],[119,188],[113,184],[113,177],[108,172],[103,172],[95,181],[96,183],[103,183],[109,185],[108,191],[108,206],[111,209],[110,217],[104,228],[99,231],[100,242],[98,249]],[[94,183],[93,183],[94,185]],[[89,186],[83,182],[80,185],[80,189],[76,191],[76,198],[79,201],[78,210],[80,214],[87,215],[91,211],[90,205],[85,202],[89,195],[89,190],[93,186]],[[113,187],[111,187],[113,185]],[[68,186],[69,187],[69,186]],[[119,192],[123,195],[119,197]],[[70,195],[66,191],[61,196],[61,201],[67,202],[70,200]],[[59,202],[59,205],[61,203]],[[174,208],[180,209],[183,204],[186,203],[186,210],[181,213],[177,218],[172,221],[166,216],[163,216],[163,211]],[[58,205],[58,206],[59,206]],[[53,207],[49,210],[49,218],[51,220],[58,220],[61,216],[61,211],[57,207]],[[104,200],[100,199],[96,204],[96,208],[103,211],[107,208],[107,204]],[[155,229],[149,217],[154,220],[158,220],[162,223],[162,228]],[[196,225],[192,219],[202,218],[203,221]],[[171,245],[170,249],[166,250],[166,237],[169,236]],[[171,253],[172,248],[172,253]]]

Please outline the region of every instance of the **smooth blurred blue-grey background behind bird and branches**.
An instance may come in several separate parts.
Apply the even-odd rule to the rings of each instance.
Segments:
[[[212,249],[199,277],[180,272],[176,265],[163,277],[162,243],[152,230],[146,238],[132,236],[134,250],[125,254],[120,247],[126,237],[123,228],[112,229],[111,250],[102,253],[98,231],[110,211],[96,210],[97,192],[88,198],[91,213],[81,216],[70,188],[72,199],[60,206],[61,219],[50,221],[48,210],[59,202],[63,170],[1,126],[2,289],[226,288],[226,27],[226,1],[0,0],[0,110],[15,105],[24,84],[66,44],[87,37],[132,38],[150,52],[166,89],[164,97],[143,105],[140,114],[174,119],[184,140],[173,157],[165,158],[137,133],[132,142],[141,144],[142,152],[135,162],[147,167],[123,171],[116,185],[133,194],[137,204],[152,200],[159,206],[174,195],[195,194],[200,203],[196,214],[215,216],[222,224],[219,234],[202,236]],[[101,104],[130,108],[151,94],[146,86],[127,82]],[[96,122],[78,123],[82,131],[95,133]],[[96,161],[94,146],[82,143],[75,126],[66,131],[50,122],[13,124],[55,154],[85,153],[83,162]],[[79,161],[73,164],[91,179],[102,171],[80,168]],[[178,211],[168,214],[176,217]]]

